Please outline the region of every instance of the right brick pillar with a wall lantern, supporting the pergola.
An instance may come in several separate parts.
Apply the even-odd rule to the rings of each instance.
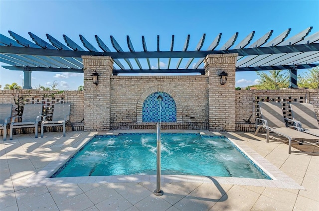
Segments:
[[[237,53],[207,55],[205,73],[208,75],[208,123],[211,131],[235,131],[235,64]],[[227,83],[221,85],[219,74],[228,73]]]

